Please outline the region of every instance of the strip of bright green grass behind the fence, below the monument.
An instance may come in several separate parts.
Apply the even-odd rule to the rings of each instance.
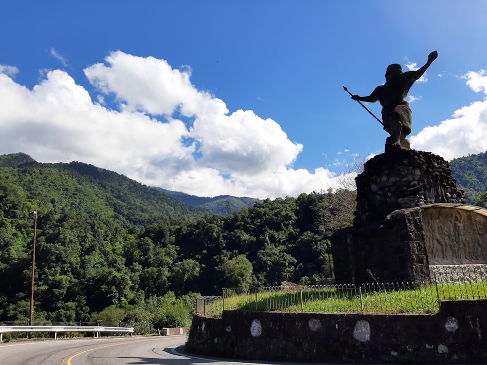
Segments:
[[[438,288],[438,290],[436,290]],[[416,288],[292,288],[238,292],[226,290],[225,299],[206,305],[207,316],[225,310],[274,310],[315,313],[418,313],[439,311],[439,301],[487,299],[487,281],[435,284]]]

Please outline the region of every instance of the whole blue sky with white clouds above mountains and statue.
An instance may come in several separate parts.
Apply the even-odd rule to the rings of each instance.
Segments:
[[[487,150],[487,1],[2,1],[0,154],[199,196],[327,189],[387,133],[345,93],[438,58],[412,148]],[[368,104],[380,116],[378,103]]]

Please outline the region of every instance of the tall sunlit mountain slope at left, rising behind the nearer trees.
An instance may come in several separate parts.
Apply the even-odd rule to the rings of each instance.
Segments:
[[[41,211],[86,213],[124,226],[172,224],[208,213],[124,175],[80,162],[38,163],[27,154],[2,155],[0,177],[34,196]]]

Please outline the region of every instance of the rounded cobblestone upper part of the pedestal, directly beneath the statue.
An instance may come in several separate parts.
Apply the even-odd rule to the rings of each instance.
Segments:
[[[356,224],[384,219],[392,211],[432,203],[465,204],[450,165],[443,157],[415,150],[393,150],[371,158],[356,177]]]

